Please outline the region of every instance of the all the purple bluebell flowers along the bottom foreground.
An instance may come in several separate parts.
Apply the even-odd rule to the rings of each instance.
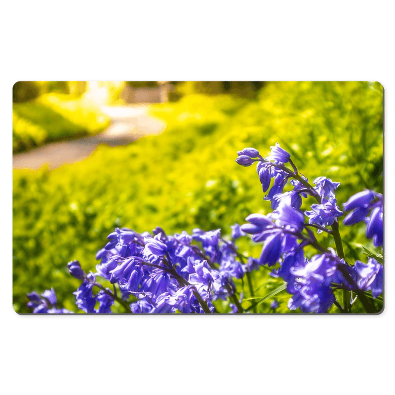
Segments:
[[[117,228],[96,254],[100,260],[96,273],[86,274],[79,261],[68,263],[70,274],[82,280],[74,292],[78,308],[85,313],[111,313],[118,303],[128,313],[214,313],[214,302],[222,299],[229,301],[232,313],[242,313],[243,293],[237,293],[234,280],[267,265],[272,276],[286,283],[290,310],[325,313],[335,303],[341,311],[349,312],[335,298],[334,291],[343,289],[355,292],[368,311],[364,292],[371,291],[373,298],[381,295],[383,265],[374,257],[369,257],[366,264],[345,261],[338,219],[348,212],[344,225],[365,221],[366,236],[376,247],[383,245],[382,195],[370,190],[359,192],[343,204],[342,211],[335,196],[340,183],[318,177],[311,185],[278,143],[271,150],[271,155],[263,158],[258,150],[245,148],[237,152],[236,159],[242,166],[257,162],[271,213],[250,214],[246,223],[233,225],[231,240],[221,237],[220,229],[194,229],[191,235],[183,231],[168,236],[159,227],[152,234]],[[291,188],[284,192],[287,184]],[[302,211],[302,198],[308,196],[316,203]],[[324,249],[313,230],[331,234],[337,252]],[[236,240],[246,235],[263,243],[259,257],[243,257],[238,252]],[[304,250],[308,245],[317,251],[309,259]],[[113,289],[105,288],[103,279]],[[34,313],[69,313],[56,307],[53,289],[41,295],[32,292],[28,298],[28,307]],[[276,300],[271,308],[278,308]]]

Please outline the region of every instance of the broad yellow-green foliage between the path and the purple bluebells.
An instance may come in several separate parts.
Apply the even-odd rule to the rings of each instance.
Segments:
[[[232,95],[189,95],[158,104],[153,115],[167,128],[126,147],[101,146],[90,158],[48,171],[14,170],[13,280],[14,306],[26,308],[26,293],[53,286],[65,307],[76,310],[71,294],[79,281],[66,274],[78,259],[94,271],[95,253],[115,227],[138,232],[161,226],[172,234],[198,227],[221,228],[243,223],[252,212],[271,211],[264,201],[255,166],[235,163],[237,150],[255,147],[263,156],[277,141],[289,150],[299,170],[312,182],[318,176],[341,182],[338,202],[367,187],[382,192],[382,87],[366,82],[274,82],[256,100]],[[308,208],[313,200],[307,200]],[[344,240],[374,248],[364,224],[340,227]],[[318,235],[325,246],[331,237]],[[366,262],[356,244],[345,244],[346,258]],[[261,246],[247,237],[238,241],[246,255]],[[309,251],[312,255],[313,250]],[[354,254],[354,255],[353,255]],[[253,273],[255,300],[246,280],[244,308],[261,300],[258,312],[270,313],[281,279],[267,268]],[[289,294],[276,294],[277,313],[287,312]],[[218,301],[219,311],[228,312]],[[336,309],[335,309],[336,310]]]

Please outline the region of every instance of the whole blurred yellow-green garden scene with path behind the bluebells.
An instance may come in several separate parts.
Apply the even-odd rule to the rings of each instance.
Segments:
[[[26,293],[50,287],[76,311],[79,280],[67,262],[94,272],[95,254],[116,227],[229,235],[248,214],[270,212],[255,166],[235,162],[244,147],[266,156],[279,142],[311,182],[341,182],[339,205],[364,188],[383,192],[378,82],[19,81],[12,133],[18,313],[30,312]],[[353,240],[345,246],[350,260],[370,245],[363,224],[341,234]],[[248,239],[239,247],[259,255]],[[265,295],[276,279],[262,271],[254,287]],[[288,298],[278,296],[278,312]]]

